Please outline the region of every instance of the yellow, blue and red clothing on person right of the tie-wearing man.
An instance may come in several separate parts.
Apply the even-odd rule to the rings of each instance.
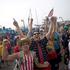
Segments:
[[[59,49],[59,34],[54,32],[51,38],[49,38],[47,49],[48,49],[48,60],[56,59],[57,53],[55,50]]]

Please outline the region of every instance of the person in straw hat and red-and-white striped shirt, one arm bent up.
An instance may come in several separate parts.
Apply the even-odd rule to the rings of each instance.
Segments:
[[[4,53],[2,59],[4,61],[14,61],[17,59],[19,61],[19,70],[33,70],[33,59],[35,58],[35,52],[29,50],[30,39],[27,37],[21,38],[20,40],[22,51],[17,53],[12,53],[8,55],[6,46],[4,46]]]

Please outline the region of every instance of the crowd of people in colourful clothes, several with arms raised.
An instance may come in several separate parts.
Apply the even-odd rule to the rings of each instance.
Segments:
[[[8,34],[0,36],[0,64],[16,62],[14,70],[60,70],[64,60],[65,70],[68,70],[70,26],[64,26],[59,32],[57,17],[52,16],[49,20],[50,25],[44,36],[39,30],[32,31],[33,18],[28,19],[28,33],[23,32],[14,20],[18,34],[13,39]]]

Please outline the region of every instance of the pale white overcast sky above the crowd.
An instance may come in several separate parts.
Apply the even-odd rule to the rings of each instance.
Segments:
[[[69,6],[70,0],[0,0],[0,27],[15,29],[13,18],[18,21],[20,27],[23,26],[21,19],[24,19],[25,25],[28,26],[30,9],[34,19],[33,25],[42,24],[52,8],[54,8],[54,16],[70,20]]]

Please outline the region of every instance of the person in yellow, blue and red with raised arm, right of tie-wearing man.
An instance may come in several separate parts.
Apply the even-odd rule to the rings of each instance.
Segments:
[[[59,33],[57,32],[57,18],[51,18],[53,21],[52,32],[48,40],[48,60],[50,61],[52,70],[59,70],[59,62],[61,61],[60,54],[60,39]]]

